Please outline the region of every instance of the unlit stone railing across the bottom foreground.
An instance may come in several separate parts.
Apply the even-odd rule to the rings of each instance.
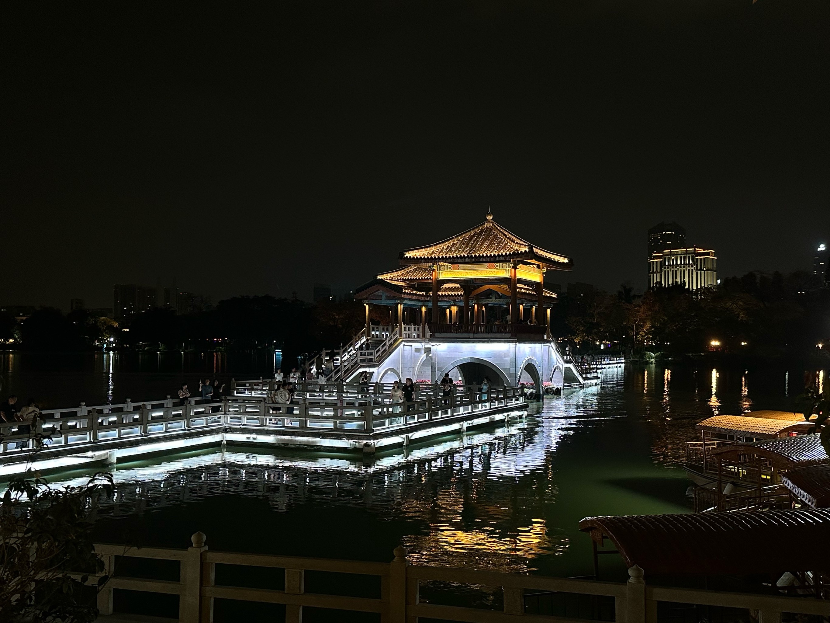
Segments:
[[[110,580],[98,594],[98,608],[102,615],[113,612],[113,594],[116,590],[145,591],[179,596],[179,621],[183,623],[212,623],[213,603],[216,599],[254,601],[284,604],[286,621],[302,621],[303,608],[328,608],[339,611],[373,612],[383,623],[417,623],[419,617],[471,623],[510,623],[515,616],[526,616],[525,621],[542,623],[574,623],[574,619],[554,616],[528,615],[525,591],[557,591],[577,595],[606,596],[614,601],[614,621],[617,623],[655,623],[657,602],[672,602],[697,606],[742,608],[752,612],[759,623],[781,621],[781,613],[830,616],[830,602],[813,598],[799,598],[750,593],[706,591],[690,588],[647,586],[640,567],[628,570],[626,583],[576,580],[548,576],[525,576],[498,571],[479,571],[463,567],[427,567],[412,565],[407,551],[398,547],[392,562],[360,562],[329,558],[306,558],[272,554],[210,552],[205,535],[196,532],[187,549],[96,545],[104,561],[100,576]],[[178,581],[154,580],[120,576],[116,557],[140,557],[154,560],[178,561]],[[282,589],[227,586],[217,584],[216,566],[277,568],[285,571]],[[378,582],[378,597],[333,595],[323,592],[305,592],[305,571],[325,571],[374,576]],[[335,576],[336,577],[336,576]],[[90,577],[90,584],[98,576]],[[504,596],[500,611],[466,606],[443,606],[420,600],[420,586],[424,581],[447,581],[477,586],[500,586]],[[332,586],[338,584],[332,581]],[[320,589],[318,589],[320,590]],[[342,591],[338,591],[342,592]],[[104,619],[105,621],[105,619]],[[580,621],[592,621],[582,619]]]

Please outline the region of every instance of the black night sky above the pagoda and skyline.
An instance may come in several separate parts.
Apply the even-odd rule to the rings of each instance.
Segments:
[[[830,3],[4,2],[0,303],[344,292],[496,221],[646,285],[830,243]]]

